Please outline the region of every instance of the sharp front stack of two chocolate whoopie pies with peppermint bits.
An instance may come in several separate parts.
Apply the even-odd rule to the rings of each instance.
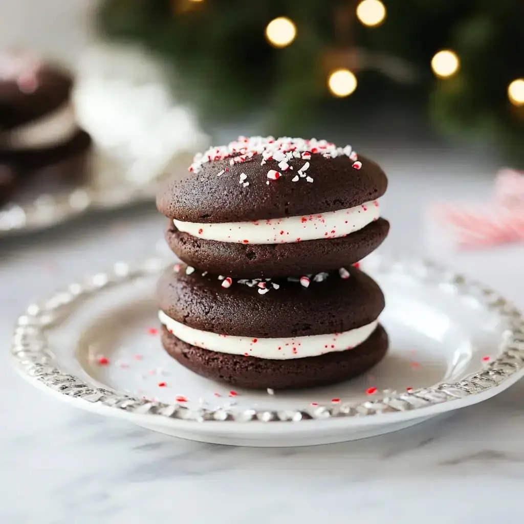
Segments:
[[[157,198],[183,261],[158,283],[162,344],[199,375],[301,388],[384,357],[384,295],[358,261],[384,241],[384,172],[350,146],[239,137]]]

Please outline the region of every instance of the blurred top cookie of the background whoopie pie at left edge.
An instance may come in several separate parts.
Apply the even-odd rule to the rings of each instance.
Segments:
[[[32,122],[68,102],[70,74],[29,54],[0,53],[0,132]]]

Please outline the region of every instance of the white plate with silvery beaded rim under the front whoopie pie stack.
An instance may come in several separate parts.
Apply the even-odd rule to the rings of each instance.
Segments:
[[[383,362],[336,386],[232,391],[163,352],[153,292],[165,265],[119,262],[29,305],[12,346],[21,375],[78,407],[162,433],[294,446],[406,428],[486,400],[524,374],[524,319],[504,298],[431,263],[372,255],[363,268],[386,294],[381,322],[391,339]]]

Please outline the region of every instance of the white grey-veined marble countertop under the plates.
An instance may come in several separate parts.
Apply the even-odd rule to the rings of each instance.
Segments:
[[[524,308],[524,244],[435,252],[421,220],[434,198],[487,195],[496,165],[453,151],[370,153],[390,179],[383,214],[392,231],[385,248],[405,256],[433,252]],[[16,376],[7,342],[16,315],[79,275],[154,253],[164,222],[151,208],[87,216],[0,242],[2,524],[520,521],[522,382],[398,433],[248,449],[177,440],[83,412]]]

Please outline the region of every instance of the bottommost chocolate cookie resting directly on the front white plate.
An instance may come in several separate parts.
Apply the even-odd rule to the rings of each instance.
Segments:
[[[379,324],[365,342],[352,350],[290,360],[203,350],[177,339],[165,326],[162,345],[182,366],[212,380],[249,389],[296,389],[335,384],[361,375],[384,358],[388,336]]]

